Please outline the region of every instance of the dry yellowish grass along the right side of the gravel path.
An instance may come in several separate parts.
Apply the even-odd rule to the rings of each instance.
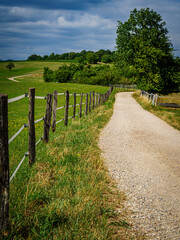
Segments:
[[[160,101],[179,103],[179,100],[178,100],[179,96],[180,96],[179,93],[173,93],[168,95],[169,98],[162,98],[160,99]],[[153,113],[157,117],[167,122],[172,127],[180,130],[180,109],[179,108],[176,108],[176,109],[164,108],[160,106],[154,107],[145,97],[140,96],[140,91],[135,91],[133,94],[133,97],[145,110]],[[165,97],[167,97],[167,95]]]

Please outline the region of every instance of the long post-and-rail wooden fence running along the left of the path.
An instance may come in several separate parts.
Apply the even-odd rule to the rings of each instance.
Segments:
[[[95,93],[85,93],[86,101],[83,103],[84,94],[69,94],[69,91],[65,93],[58,93],[54,91],[53,94],[47,94],[47,97],[35,96],[35,88],[29,89],[29,94],[23,94],[19,97],[8,99],[5,94],[0,94],[0,233],[4,233],[8,229],[8,219],[9,219],[9,184],[16,175],[20,166],[22,165],[24,159],[29,156],[29,164],[32,165],[36,160],[36,146],[41,140],[47,143],[49,142],[49,131],[55,132],[56,124],[64,121],[64,125],[68,125],[68,120],[76,116],[82,117],[91,113],[93,109],[103,104],[108,100],[113,87],[111,87],[105,94]],[[57,108],[57,96],[65,96],[65,105]],[[74,103],[69,105],[69,98],[73,96]],[[77,96],[80,96],[80,103],[76,103]],[[8,103],[18,101],[24,97],[29,97],[29,114],[28,114],[28,124],[24,124],[17,132],[8,140]],[[46,111],[45,116],[34,121],[34,110],[35,110],[35,98],[46,99]],[[52,104],[53,100],[53,104]],[[85,104],[85,110],[83,111],[82,106]],[[79,106],[79,112],[76,113],[76,108]],[[73,108],[73,115],[69,116],[69,108]],[[64,118],[57,121],[56,112],[59,109],[64,109]],[[51,124],[52,118],[52,124]],[[35,124],[44,121],[43,136],[36,142],[35,134]],[[19,162],[17,168],[11,177],[9,177],[9,144],[23,131],[25,127],[28,127],[29,131],[29,144],[28,152],[24,154],[23,158]]]

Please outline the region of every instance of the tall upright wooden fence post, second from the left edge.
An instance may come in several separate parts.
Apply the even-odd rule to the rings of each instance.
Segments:
[[[35,88],[29,89],[29,114],[28,114],[28,129],[29,129],[29,164],[33,164],[36,158],[36,135],[34,124],[34,105],[35,105]]]

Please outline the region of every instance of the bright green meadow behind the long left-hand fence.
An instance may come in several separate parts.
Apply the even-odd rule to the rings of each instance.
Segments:
[[[8,80],[9,74],[11,76],[19,76],[21,74],[36,73],[43,69],[43,64],[50,64],[52,68],[58,68],[59,63],[55,62],[16,62],[16,69],[9,72],[5,69],[5,64],[0,63],[2,75],[0,92],[8,94],[8,98],[28,93],[29,88],[35,87],[37,96],[46,96],[47,93],[53,93],[57,90],[60,93],[64,93],[69,90],[70,93],[86,93],[90,91],[96,91],[104,93],[107,91],[107,87],[91,86],[84,84],[70,84],[70,83],[45,83],[42,75],[26,76],[18,78],[19,82],[13,82]],[[63,64],[63,63],[60,63]],[[34,69],[34,70],[32,70]],[[17,73],[18,71],[18,73]],[[80,102],[80,96],[77,97],[77,103]],[[85,102],[85,97],[83,99]],[[70,97],[70,105],[73,104],[73,96]],[[58,96],[58,107],[65,105],[65,97]],[[9,139],[23,126],[24,123],[28,123],[28,107],[29,99],[24,98],[19,101],[8,104],[8,127],[9,127]],[[84,110],[85,105],[83,105]],[[46,100],[35,100],[35,120],[42,118],[46,111]],[[69,109],[69,116],[72,116],[73,109]],[[77,107],[77,112],[79,107]],[[64,109],[57,111],[57,121],[64,118]],[[60,123],[62,125],[63,123]],[[43,135],[43,122],[36,124],[36,139],[38,140]],[[23,132],[13,141],[9,146],[10,153],[10,173],[12,173],[18,161],[22,158],[25,152],[27,152],[28,146],[28,129],[25,128]]]

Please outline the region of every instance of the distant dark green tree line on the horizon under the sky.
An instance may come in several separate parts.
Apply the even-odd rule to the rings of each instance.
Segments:
[[[103,63],[111,63],[115,59],[115,51],[110,50],[99,50],[97,52],[94,51],[86,51],[83,50],[81,52],[69,52],[63,54],[54,54],[51,53],[49,56],[44,55],[43,57],[37,54],[32,54],[28,57],[28,61],[67,61],[73,60],[78,63],[89,63],[96,64],[97,62]]]

